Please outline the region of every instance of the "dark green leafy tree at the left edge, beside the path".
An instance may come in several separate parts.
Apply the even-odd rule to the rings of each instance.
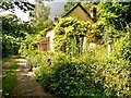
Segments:
[[[22,22],[16,15],[0,16],[2,20],[2,57],[17,54],[20,44],[25,39],[25,33],[32,33],[27,23]]]

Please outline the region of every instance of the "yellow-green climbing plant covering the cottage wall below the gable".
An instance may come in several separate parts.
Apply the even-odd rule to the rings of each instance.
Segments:
[[[73,17],[61,19],[55,27],[55,50],[58,51],[64,47],[68,53],[82,52],[88,25],[90,23],[80,22]]]

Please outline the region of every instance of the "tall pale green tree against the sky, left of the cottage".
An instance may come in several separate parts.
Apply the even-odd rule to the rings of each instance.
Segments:
[[[35,9],[31,12],[31,25],[35,33],[48,27],[52,22],[49,20],[50,8],[44,5],[41,2],[36,2]]]

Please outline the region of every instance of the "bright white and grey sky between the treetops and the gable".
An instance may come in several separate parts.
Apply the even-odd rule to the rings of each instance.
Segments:
[[[31,3],[35,3],[35,0],[28,0]],[[46,5],[49,5],[50,7],[50,15],[49,17],[51,20],[53,20],[53,16],[55,15],[58,15],[58,16],[61,16],[61,13],[63,12],[64,10],[64,3],[66,3],[66,0],[53,0],[52,2],[47,2],[47,1],[44,1],[44,3]],[[4,12],[1,12],[0,15],[3,15],[3,14],[9,14],[11,12],[9,11],[4,11]],[[29,21],[29,15],[28,15],[28,12],[24,13],[23,11],[19,10],[19,9],[15,9],[14,13],[13,14],[16,14],[17,17],[22,19],[22,21]]]

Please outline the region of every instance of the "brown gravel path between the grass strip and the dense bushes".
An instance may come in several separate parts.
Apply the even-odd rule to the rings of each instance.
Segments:
[[[12,98],[56,98],[45,93],[43,87],[34,79],[33,72],[28,72],[26,59],[20,59],[20,68],[15,71],[17,76],[17,86]]]

